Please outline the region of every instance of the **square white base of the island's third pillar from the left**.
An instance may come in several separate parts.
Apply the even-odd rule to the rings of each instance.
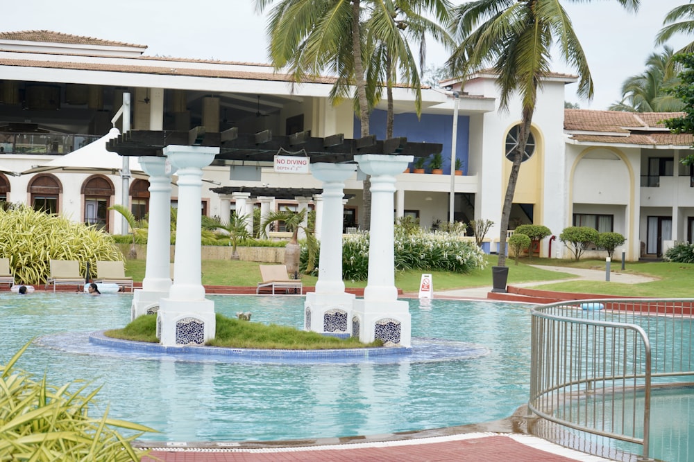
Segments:
[[[309,292],[304,303],[304,330],[319,334],[352,334],[354,294]]]

